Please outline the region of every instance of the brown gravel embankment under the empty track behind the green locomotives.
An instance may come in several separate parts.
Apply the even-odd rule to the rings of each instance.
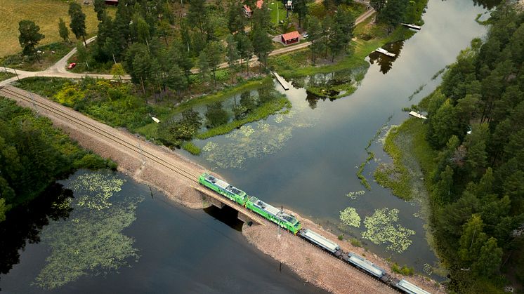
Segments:
[[[6,86],[6,88],[11,88],[18,93],[29,95],[27,91],[23,91],[20,88],[12,86]],[[34,109],[32,103],[20,100],[15,97],[15,95],[9,95],[5,91],[1,91],[0,95],[16,100],[18,105]],[[100,156],[116,161],[118,163],[119,171],[130,175],[138,182],[143,182],[155,187],[155,189],[164,192],[169,199],[181,203],[183,206],[188,206],[189,208],[204,208],[209,206],[209,203],[203,200],[202,195],[191,187],[198,185],[196,182],[197,176],[205,170],[202,166],[188,161],[188,159],[185,159],[166,147],[146,142],[142,138],[138,138],[126,131],[117,130],[116,128],[95,121],[84,114],[80,114],[73,109],[59,105],[58,103],[47,100],[46,98],[42,98],[39,95],[33,94],[32,96],[35,101],[53,107],[54,109],[61,109],[63,112],[67,112],[72,116],[80,118],[84,123],[89,123],[89,125],[102,128],[134,147],[140,146],[142,152],[120,145],[119,143],[86,128],[86,126],[72,123],[72,121],[42,107],[36,107],[39,114],[51,119],[55,126],[63,129],[63,131],[68,133],[73,140],[76,140],[79,143],[79,145],[96,152]],[[147,153],[163,159],[166,163],[172,166],[187,171],[189,178],[185,178],[171,169],[166,168],[164,165],[146,158],[143,154]]]

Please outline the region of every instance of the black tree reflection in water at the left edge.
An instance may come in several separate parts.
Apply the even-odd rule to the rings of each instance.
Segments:
[[[72,208],[67,199],[72,198],[70,189],[54,184],[25,206],[11,209],[6,220],[0,222],[0,273],[7,274],[20,262],[20,249],[27,243],[39,243],[42,228],[49,220],[65,220]]]

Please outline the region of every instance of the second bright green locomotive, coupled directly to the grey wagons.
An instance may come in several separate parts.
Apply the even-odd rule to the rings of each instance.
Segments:
[[[280,227],[289,229],[293,234],[299,232],[302,227],[299,220],[296,220],[293,215],[284,213],[284,211],[281,211],[256,197],[251,197],[247,200],[246,208],[262,215],[263,218],[266,218],[271,222],[275,222],[275,224],[280,225]]]

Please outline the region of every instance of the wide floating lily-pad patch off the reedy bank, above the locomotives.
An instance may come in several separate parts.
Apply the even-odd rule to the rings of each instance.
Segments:
[[[225,142],[207,142],[202,148],[205,159],[221,168],[242,168],[247,159],[262,158],[284,147],[295,128],[307,128],[313,123],[296,116],[296,109],[278,114],[279,123],[258,121],[225,135]],[[279,119],[279,117],[281,119]],[[276,120],[276,119],[275,119]]]

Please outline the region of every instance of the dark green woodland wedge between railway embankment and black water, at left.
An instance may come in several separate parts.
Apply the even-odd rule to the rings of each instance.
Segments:
[[[81,149],[51,120],[0,98],[0,222],[77,168],[106,167],[117,166]]]

